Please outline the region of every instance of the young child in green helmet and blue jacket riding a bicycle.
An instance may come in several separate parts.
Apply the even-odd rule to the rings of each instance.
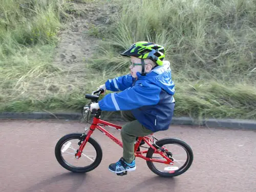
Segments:
[[[99,89],[113,92],[105,95],[90,110],[121,111],[130,121],[121,129],[123,156],[109,166],[114,173],[136,169],[134,143],[136,137],[167,130],[174,113],[175,86],[165,50],[153,42],[139,41],[121,53],[131,57],[131,74],[109,79]]]

